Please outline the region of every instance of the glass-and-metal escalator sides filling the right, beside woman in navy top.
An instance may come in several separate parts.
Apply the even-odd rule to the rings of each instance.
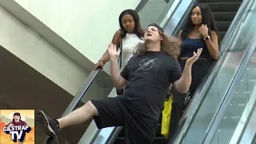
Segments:
[[[245,0],[242,3],[234,30],[229,37],[224,38],[229,41],[222,43],[222,48],[226,49],[222,58],[218,60],[200,96],[195,100],[198,104],[194,104],[193,110],[187,110],[189,112],[180,122],[176,138],[170,143],[226,144],[236,143],[242,137],[237,134],[245,126],[242,115],[246,113],[256,78],[256,30],[253,24],[255,5],[254,1]],[[238,131],[234,133],[235,130]]]

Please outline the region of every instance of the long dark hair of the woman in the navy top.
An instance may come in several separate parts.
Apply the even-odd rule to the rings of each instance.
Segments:
[[[214,30],[217,35],[218,35],[218,30],[214,21],[214,15],[212,14],[210,7],[206,4],[203,3],[198,3],[197,5],[195,5],[192,10],[194,10],[195,7],[199,7],[201,10],[201,14],[202,14],[202,24],[206,25],[208,27],[208,34],[211,35],[210,30]],[[190,16],[192,15],[192,10],[190,12]],[[188,36],[188,34],[190,34],[190,32],[193,30],[194,24],[190,18],[187,18],[187,22],[186,22],[186,26],[184,27],[184,29],[182,30],[182,36],[181,38],[186,38]]]

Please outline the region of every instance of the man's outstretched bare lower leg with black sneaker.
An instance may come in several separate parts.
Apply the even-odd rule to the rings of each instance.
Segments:
[[[73,126],[86,122],[94,115],[98,115],[98,110],[92,102],[86,102],[85,105],[72,111],[70,114],[63,118],[49,118],[42,110],[38,111],[36,116],[37,122],[39,122],[46,130],[46,134],[50,137],[55,137],[58,134],[60,128],[67,126]]]

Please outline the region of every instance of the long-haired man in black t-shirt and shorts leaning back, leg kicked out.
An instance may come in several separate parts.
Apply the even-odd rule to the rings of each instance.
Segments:
[[[176,57],[179,42],[169,38],[157,24],[150,24],[144,34],[144,43],[137,46],[134,57],[120,73],[116,46],[110,44],[111,78],[114,87],[126,90],[122,97],[91,100],[63,118],[49,118],[40,110],[36,116],[46,134],[55,137],[59,129],[86,122],[94,118],[98,129],[125,126],[126,143],[150,144],[158,126],[158,117],[166,99],[170,83],[180,93],[189,90],[191,67],[202,49],[186,61],[181,72]]]

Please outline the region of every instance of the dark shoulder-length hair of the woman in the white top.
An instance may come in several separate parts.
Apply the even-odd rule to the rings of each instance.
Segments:
[[[120,31],[121,31],[121,37],[125,38],[127,31],[125,28],[122,26],[122,17],[126,14],[130,14],[134,18],[135,22],[135,28],[134,28],[134,33],[138,35],[138,38],[143,38],[144,36],[144,30],[141,28],[141,23],[139,21],[139,16],[138,13],[135,10],[123,10],[122,13],[119,15],[119,26],[120,26]]]

